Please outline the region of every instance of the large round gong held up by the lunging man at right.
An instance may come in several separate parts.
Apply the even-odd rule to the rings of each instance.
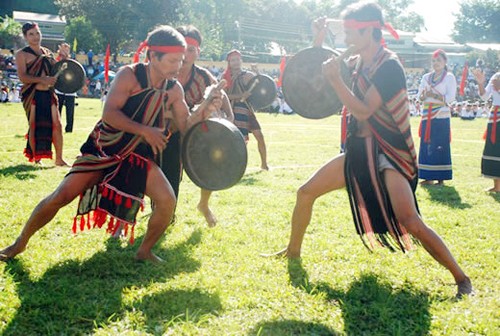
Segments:
[[[338,113],[342,102],[324,78],[322,64],[339,52],[328,48],[311,47],[295,54],[283,72],[283,95],[292,110],[302,117],[321,119]],[[347,66],[342,69],[344,80],[349,79]]]

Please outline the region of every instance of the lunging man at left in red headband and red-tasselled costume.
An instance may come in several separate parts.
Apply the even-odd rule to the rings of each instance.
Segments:
[[[147,195],[155,207],[136,259],[161,261],[152,248],[170,224],[176,202],[172,187],[154,160],[168,142],[165,117],[171,113],[184,133],[207,118],[221,104],[221,96],[215,91],[206,111],[190,115],[182,86],[174,79],[184,59],[186,42],[172,27],[160,26],[150,32],[141,44],[143,48],[147,48],[146,63],[134,63],[118,71],[102,119],[81,147],[82,155],[59,187],[34,209],[14,243],[0,251],[0,260],[23,252],[30,238],[79,195],[73,232],[106,225],[108,232],[116,234],[123,227],[133,243],[137,213]]]

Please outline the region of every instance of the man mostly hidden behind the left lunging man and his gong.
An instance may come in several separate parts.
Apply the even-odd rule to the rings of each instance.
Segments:
[[[200,31],[192,25],[181,26],[177,28],[186,39],[187,48],[184,55],[184,62],[177,76],[177,80],[184,88],[184,97],[186,103],[193,113],[200,113],[197,109],[204,100],[205,91],[211,85],[217,83],[215,77],[205,68],[195,64],[200,56],[200,46],[202,36]],[[231,122],[234,121],[233,111],[227,95],[223,95],[222,108],[217,111],[214,117],[225,118]],[[181,155],[180,155],[180,133],[177,132],[175,123],[170,123],[170,139],[167,148],[162,153],[160,167],[170,182],[175,196],[179,195],[179,184],[181,179]],[[201,189],[198,210],[203,214],[209,227],[217,223],[217,219],[208,206],[211,196],[210,190]]]

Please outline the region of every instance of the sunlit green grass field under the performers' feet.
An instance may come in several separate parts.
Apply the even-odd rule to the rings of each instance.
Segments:
[[[64,138],[67,159],[79,153],[100,116],[98,100],[78,101],[74,133]],[[4,247],[68,169],[25,160],[20,104],[0,105],[0,116]],[[251,138],[241,182],[213,194],[217,227],[209,229],[196,211],[199,189],[184,175],[177,222],[155,248],[166,263],[136,263],[149,210],[140,214],[138,241],[129,246],[104,230],[74,236],[75,201],[16,260],[0,263],[0,333],[500,335],[500,197],[483,191],[492,181],[480,176],[485,120],[452,120],[454,179],[417,190],[426,223],[447,242],[477,291],[456,302],[451,275],[423,248],[368,252],[356,236],[344,190],[316,202],[300,261],[260,257],[286,245],[295,191],[338,153],[340,120],[258,118],[272,169],[258,169]],[[415,136],[418,119],[412,126]]]

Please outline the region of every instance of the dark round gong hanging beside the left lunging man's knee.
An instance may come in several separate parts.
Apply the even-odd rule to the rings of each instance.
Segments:
[[[208,119],[189,129],[182,143],[182,163],[198,187],[227,189],[241,179],[247,147],[236,126],[225,119]]]

